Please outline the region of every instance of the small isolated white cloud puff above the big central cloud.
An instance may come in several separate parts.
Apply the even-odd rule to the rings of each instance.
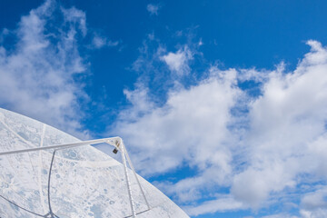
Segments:
[[[193,59],[193,53],[185,45],[183,49],[179,49],[176,53],[170,52],[161,56],[160,59],[168,65],[173,73],[182,76],[190,73],[189,61]]]

